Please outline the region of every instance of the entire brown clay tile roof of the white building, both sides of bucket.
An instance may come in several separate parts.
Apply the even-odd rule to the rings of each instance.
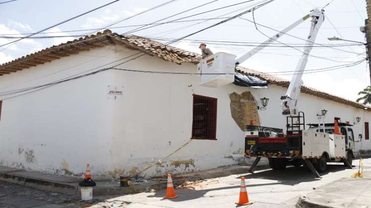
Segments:
[[[172,46],[165,46],[160,42],[152,41],[144,37],[134,35],[122,36],[117,33],[112,33],[110,30],[105,30],[103,31],[103,33],[98,32],[96,35],[90,35],[85,36],[84,38],[75,39],[73,41],[69,41],[58,46],[52,46],[39,52],[34,52],[29,55],[22,56],[12,61],[3,63],[0,65],[0,76],[18,70],[30,68],[39,64],[44,64],[45,62],[51,62],[52,60],[70,56],[81,51],[88,51],[90,49],[109,45],[122,45],[124,47],[139,50],[147,53],[148,55],[157,56],[164,60],[172,61],[177,64],[181,64],[184,62],[198,63],[201,59],[201,55],[198,53],[185,51]],[[263,80],[268,81],[270,84],[279,85],[282,87],[288,87],[290,84],[289,80],[285,80],[273,75],[265,74],[240,66],[237,67],[237,71],[239,71],[240,73],[257,76]],[[331,100],[337,103],[348,104],[357,108],[366,107],[363,104],[359,104],[338,96],[330,95],[326,92],[322,92],[304,85],[301,87],[301,92],[319,98]],[[368,110],[371,111],[371,108],[368,108]]]

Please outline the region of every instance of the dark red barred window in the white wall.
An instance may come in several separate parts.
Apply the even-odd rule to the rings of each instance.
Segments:
[[[218,99],[193,95],[192,139],[217,139]]]

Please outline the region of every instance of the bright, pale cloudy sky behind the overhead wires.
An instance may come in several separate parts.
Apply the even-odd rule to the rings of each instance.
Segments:
[[[6,0],[0,0],[3,2]],[[111,0],[16,0],[8,3],[0,3],[0,36],[22,36],[23,33],[37,32],[63,20],[76,16],[80,13],[103,5]],[[145,11],[168,0],[120,0],[97,11],[83,15],[72,21],[49,29],[46,34],[35,36],[71,36],[87,35],[95,28],[102,28],[110,23],[122,20],[138,12]],[[187,9],[211,2],[213,0],[175,0],[159,8],[155,8],[143,14],[113,25],[113,32],[122,34],[141,25],[152,23],[156,20],[185,11]],[[185,13],[168,18],[170,21],[181,17],[209,11],[222,6],[242,2],[245,0],[215,0],[207,5]],[[183,20],[219,18],[233,16],[243,12],[261,0],[254,0],[233,7],[216,10]],[[294,23],[313,8],[322,8],[331,0],[274,0],[273,2],[255,10],[255,21],[261,25],[276,30],[282,30]],[[311,55],[306,65],[306,70],[332,67],[362,60],[366,57],[363,45],[352,45],[345,41],[328,41],[328,37],[340,37],[344,40],[366,42],[364,33],[360,32],[360,26],[365,24],[367,18],[366,0],[333,0],[325,8],[325,21],[322,24],[316,39],[318,44],[337,44],[332,47],[317,47],[310,52]],[[252,14],[244,14],[244,19],[252,20]],[[261,43],[267,40],[267,36],[273,36],[277,32],[258,26],[259,32],[253,23],[241,18],[236,18],[216,27],[202,31],[186,40],[172,44],[172,46],[191,52],[200,52],[199,42],[207,42],[213,52],[228,52],[237,57],[253,49],[251,44],[213,44],[210,41],[228,42],[253,42]],[[198,20],[191,22],[167,23],[160,26],[134,32],[134,35],[152,38],[155,40],[172,40],[196,32],[200,29],[213,25],[221,19]],[[163,22],[163,21],[161,21]],[[288,34],[295,36],[283,36],[279,39],[285,44],[304,44],[303,40],[309,34],[310,21],[307,20],[291,30]],[[77,32],[64,32],[71,30],[88,30]],[[296,38],[298,37],[298,38]],[[0,38],[0,45],[14,39]],[[32,52],[37,52],[53,45],[74,40],[74,37],[49,38],[49,39],[23,39],[6,48],[0,47],[0,64],[11,61]],[[195,41],[191,41],[195,40]],[[282,45],[281,45],[282,46]],[[299,50],[299,51],[298,51]],[[295,50],[291,47],[266,47],[261,52],[247,59],[242,66],[257,71],[272,73],[285,79],[291,79],[292,74],[283,71],[295,70],[297,62],[302,54],[301,48]],[[304,85],[328,92],[343,98],[355,101],[359,91],[370,85],[370,75],[366,61],[337,70],[303,74]]]

